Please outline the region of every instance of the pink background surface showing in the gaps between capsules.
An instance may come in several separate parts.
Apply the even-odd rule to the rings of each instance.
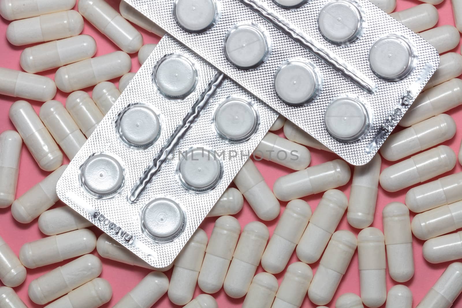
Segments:
[[[119,0],[109,0],[108,2],[118,9],[118,5],[120,2]],[[400,11],[400,10],[406,9],[411,6],[418,5],[420,3],[421,2],[417,0],[398,0],[396,10]],[[438,5],[437,8],[439,11],[438,26],[444,25],[444,24],[454,25],[453,13],[451,9],[450,0],[444,0],[444,2]],[[20,70],[21,67],[19,66],[19,55],[24,49],[24,46],[16,47],[16,46],[11,45],[6,40],[6,36],[4,35],[4,33],[6,31],[7,25],[8,25],[8,21],[0,18],[0,33],[1,33],[0,67],[8,67],[8,68]],[[159,37],[145,30],[142,30],[142,29],[139,29],[139,30],[144,36],[145,43],[158,42]],[[83,33],[89,34],[96,39],[97,47],[98,47],[96,55],[107,54],[109,52],[118,50],[116,45],[110,42],[109,39],[103,36],[98,30],[96,30],[88,22],[85,22],[85,28],[83,30]],[[458,46],[453,51],[460,53],[460,46]],[[133,62],[133,67],[132,67],[131,72],[136,72],[137,69],[140,67],[138,63],[137,54],[132,54],[131,56],[132,56],[132,62]],[[55,70],[51,70],[51,71],[43,73],[43,75],[53,78],[54,73],[55,73]],[[118,79],[112,80],[112,81],[116,84],[118,83]],[[92,88],[89,88],[86,90],[89,93],[91,93]],[[62,103],[65,103],[66,97],[67,97],[66,93],[58,91],[58,94],[55,99],[61,101]],[[0,132],[3,132],[7,129],[15,129],[11,121],[8,118],[8,109],[10,105],[16,100],[18,99],[0,95]],[[41,103],[39,102],[30,102],[30,103],[34,106],[36,112],[38,113]],[[451,116],[453,116],[457,122],[462,121],[462,108],[459,107],[456,109],[452,109],[448,113]],[[282,133],[282,130],[280,130],[280,132],[278,133],[281,136],[284,135]],[[457,153],[459,151],[460,143],[461,143],[461,127],[458,127],[456,136],[453,139],[445,142],[444,144],[449,145]],[[0,150],[3,150],[3,149],[0,149]],[[312,155],[311,165],[316,165],[316,164],[323,163],[323,162],[336,158],[334,154],[331,154],[325,151],[319,151],[315,149],[310,149],[310,150],[311,150],[311,155]],[[65,160],[66,160],[65,163],[67,163],[67,158],[65,158]],[[281,167],[279,165],[266,162],[266,161],[256,162],[256,165],[258,169],[261,171],[261,173],[264,175],[265,180],[270,187],[273,186],[274,181],[278,177],[292,172],[290,169],[286,169],[284,167]],[[390,165],[389,162],[383,160],[382,169],[388,167],[389,165]],[[455,173],[455,172],[460,172],[460,171],[462,171],[462,167],[457,163],[456,168],[452,170],[450,173]],[[444,175],[448,175],[448,174],[444,174]],[[46,175],[48,175],[48,173],[39,169],[34,159],[31,157],[27,148],[23,146],[21,164],[20,164],[20,170],[19,170],[17,197],[22,195],[24,192],[26,192],[30,187],[34,186],[38,181],[41,181]],[[344,187],[340,187],[339,189],[342,190],[344,193],[346,193],[346,195],[348,196],[349,191],[350,191],[350,185],[351,185],[351,181],[350,183],[348,183],[348,185],[345,185]],[[372,224],[373,227],[377,227],[383,230],[382,219],[381,219],[383,207],[392,201],[404,202],[406,191],[407,190],[405,189],[397,193],[387,193],[379,187],[377,210],[376,210],[376,216],[375,216],[374,223]],[[304,199],[310,204],[311,209],[314,211],[321,197],[322,197],[322,193],[319,193],[319,194],[312,195]],[[63,204],[61,202],[58,202],[55,206],[61,206],[61,205]],[[282,211],[281,211],[281,214],[282,214],[286,203],[281,202],[281,205],[282,205]],[[411,216],[413,216],[413,214],[411,214]],[[258,220],[254,212],[250,209],[247,202],[244,203],[243,210],[240,213],[238,213],[236,217],[241,223],[242,227],[251,221]],[[207,218],[201,224],[201,228],[207,232],[207,235],[209,237],[212,232],[214,222],[215,222],[215,218],[212,217],[212,218]],[[273,232],[274,227],[276,226],[277,222],[278,222],[278,219],[275,219],[272,222],[266,223],[270,230],[270,233]],[[97,229],[96,227],[92,227],[91,229],[98,236],[99,234],[101,234],[101,231]],[[348,229],[348,230],[353,231],[353,233],[355,233],[356,235],[359,232],[358,229],[354,229],[350,227],[350,225],[346,221],[346,215],[342,218],[338,229]],[[37,219],[29,224],[18,223],[12,217],[9,208],[0,209],[0,236],[2,236],[5,239],[5,241],[11,246],[11,248],[16,254],[19,253],[19,249],[25,242],[34,241],[39,238],[45,237],[38,229]],[[422,256],[422,245],[423,245],[423,241],[420,241],[414,238],[413,248],[414,248],[414,260],[415,260],[415,275],[409,282],[406,283],[406,285],[412,290],[412,293],[414,296],[413,307],[415,307],[419,303],[419,301],[423,298],[423,296],[425,296],[426,292],[432,287],[434,282],[438,279],[438,277],[441,275],[444,269],[448,266],[448,263],[431,265],[428,262],[426,262]],[[96,250],[93,253],[97,254]],[[101,277],[109,280],[110,284],[112,285],[113,291],[114,291],[111,301],[102,306],[104,308],[112,307],[116,302],[118,302],[122,298],[122,296],[124,296],[129,290],[131,290],[136,284],[138,284],[138,282],[149,272],[149,270],[139,268],[136,266],[127,266],[127,265],[124,265],[124,264],[121,264],[115,261],[103,259],[103,258],[101,260],[103,261],[103,273]],[[298,261],[298,259],[296,255],[293,254],[292,259],[290,260],[289,264],[295,261]],[[29,306],[30,308],[43,307],[40,305],[36,305],[29,300],[29,297],[27,295],[27,288],[30,282],[33,279],[43,275],[44,273],[51,271],[56,266],[62,266],[67,262],[69,262],[69,260],[63,261],[60,264],[53,264],[50,266],[44,266],[44,267],[40,267],[37,269],[28,270],[28,275],[27,275],[27,279],[25,283],[19,286],[18,288],[15,288],[15,290],[18,292],[19,296],[24,300],[27,306]],[[317,266],[318,266],[317,263],[311,265],[314,272],[316,271]],[[261,271],[263,271],[263,269],[260,266],[257,272],[261,272]],[[166,274],[167,276],[170,277],[171,270],[169,272],[166,272]],[[284,272],[276,275],[276,278],[278,278],[279,282],[281,282],[283,276],[284,276]],[[388,276],[387,289],[389,290],[395,284],[397,283],[395,283]],[[346,293],[346,292],[353,292],[353,293],[359,294],[359,272],[358,272],[357,253],[355,253],[355,255],[353,256],[353,260],[345,274],[345,277],[341,281],[340,286],[337,292],[335,293],[334,300],[330,302],[328,306],[333,308],[335,300],[341,294]],[[202,292],[199,289],[199,287],[196,287],[195,296],[201,293]],[[213,296],[219,302],[220,308],[228,308],[228,307],[234,308],[234,307],[242,306],[243,298],[232,299],[225,294],[223,289],[220,290],[218,293],[214,294]],[[170,303],[167,295],[164,295],[157,302],[157,304],[154,305],[154,307],[174,308],[178,306]],[[313,307],[314,308],[316,307],[316,305],[312,304],[308,300],[308,297],[305,297],[302,307],[307,307],[307,308]],[[456,303],[454,304],[454,307],[462,307],[462,300],[459,299],[458,301],[456,301]]]

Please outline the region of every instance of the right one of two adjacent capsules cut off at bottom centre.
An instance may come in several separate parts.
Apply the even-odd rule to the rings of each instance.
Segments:
[[[289,265],[271,308],[301,307],[312,278],[313,271],[303,262]]]

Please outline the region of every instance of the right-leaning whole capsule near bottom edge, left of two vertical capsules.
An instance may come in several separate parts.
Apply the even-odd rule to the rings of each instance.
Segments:
[[[357,245],[356,236],[350,231],[339,230],[332,235],[308,289],[311,302],[325,305],[332,301]]]

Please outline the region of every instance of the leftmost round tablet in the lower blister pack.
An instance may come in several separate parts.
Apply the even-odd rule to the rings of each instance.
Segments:
[[[96,154],[82,165],[80,180],[92,195],[107,197],[117,193],[122,187],[123,168],[116,158],[108,154]]]

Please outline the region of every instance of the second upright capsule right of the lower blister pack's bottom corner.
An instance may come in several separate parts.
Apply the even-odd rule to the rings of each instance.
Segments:
[[[202,291],[216,293],[223,286],[240,233],[241,226],[232,216],[219,217],[215,222],[197,279]]]

